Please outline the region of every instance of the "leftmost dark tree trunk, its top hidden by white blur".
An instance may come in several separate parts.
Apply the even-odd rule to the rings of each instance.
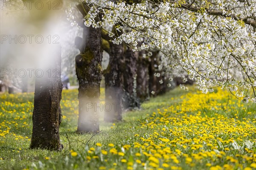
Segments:
[[[61,150],[59,126],[61,123],[61,51],[57,51],[57,57],[49,61],[51,70],[57,69],[57,74],[35,79],[35,98],[33,110],[33,131],[30,147]],[[48,70],[48,69],[47,69]]]

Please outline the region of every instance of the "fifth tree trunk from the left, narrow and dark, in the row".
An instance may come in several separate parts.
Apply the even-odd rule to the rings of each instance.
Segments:
[[[149,60],[148,57],[143,57],[145,51],[140,51],[139,58],[137,61],[137,97],[140,102],[145,101],[149,96],[148,89],[148,67]]]

